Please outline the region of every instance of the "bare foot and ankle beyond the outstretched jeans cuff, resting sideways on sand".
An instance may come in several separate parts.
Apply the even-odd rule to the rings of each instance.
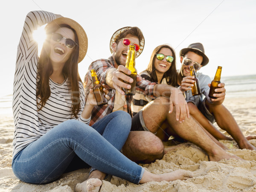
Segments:
[[[148,171],[145,170],[142,179],[140,180],[140,184],[143,183],[147,183],[149,181],[162,181],[162,180],[166,180],[166,181],[173,181],[173,180],[187,180],[189,178],[193,177],[193,173],[191,171],[185,171],[182,169],[176,170],[174,172],[171,173],[164,173],[164,174],[160,174],[160,175],[156,175],[153,173],[150,173]]]

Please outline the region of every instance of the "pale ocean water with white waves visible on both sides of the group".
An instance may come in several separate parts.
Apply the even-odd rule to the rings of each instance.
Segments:
[[[256,96],[256,75],[221,77],[221,82],[225,83],[226,98]],[[0,97],[0,114],[12,114],[12,94]]]

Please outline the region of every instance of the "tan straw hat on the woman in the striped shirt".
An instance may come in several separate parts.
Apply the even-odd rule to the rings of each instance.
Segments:
[[[69,25],[71,28],[73,28],[76,31],[78,42],[79,42],[79,56],[78,56],[78,62],[80,63],[84,56],[86,55],[87,48],[88,48],[88,39],[87,35],[79,23],[76,21],[67,18],[67,17],[59,17],[52,22],[48,23],[47,26],[44,28],[45,31],[52,29],[52,28],[59,28],[61,24]]]

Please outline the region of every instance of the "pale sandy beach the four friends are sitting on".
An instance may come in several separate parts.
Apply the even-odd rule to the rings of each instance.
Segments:
[[[245,136],[256,135],[256,97],[226,98],[224,105],[230,110]],[[216,126],[218,126],[215,123]],[[88,177],[89,169],[79,169],[64,174],[53,183],[33,185],[18,180],[12,172],[12,137],[14,123],[12,113],[0,116],[0,191],[67,191],[72,192],[76,183]],[[228,135],[225,131],[224,134]],[[205,152],[191,143],[177,145],[162,160],[151,164],[141,164],[155,174],[185,169],[193,172],[194,177],[186,181],[148,182],[136,185],[113,176],[111,181],[103,181],[101,192],[105,191],[256,191],[256,151],[239,149],[234,141],[221,141],[228,152],[242,160],[208,161]],[[256,146],[256,140],[250,140]]]

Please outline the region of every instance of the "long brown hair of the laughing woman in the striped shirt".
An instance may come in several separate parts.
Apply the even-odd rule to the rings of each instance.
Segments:
[[[72,29],[69,25],[61,24],[58,28],[61,27],[67,27],[69,29]],[[57,29],[58,29],[57,28]],[[49,59],[49,41],[52,37],[52,32],[55,32],[57,30],[50,29],[47,31],[47,39],[44,43],[41,54],[38,61],[38,75],[37,75],[37,90],[36,90],[36,96],[37,99],[40,98],[40,102],[38,103],[38,111],[40,111],[47,99],[49,99],[49,96],[51,94],[50,87],[49,87],[49,77],[53,72],[52,64]],[[78,56],[79,56],[79,41],[76,34],[76,31],[72,29],[75,34],[75,42],[76,47],[74,47],[73,52],[70,55],[70,58],[66,61],[63,67],[63,74],[65,77],[67,77],[67,80],[69,82],[69,90],[71,93],[71,99],[72,99],[72,114],[77,118],[77,114],[80,111],[80,91],[79,91],[79,81],[81,81],[81,78],[79,76],[78,72]]]

